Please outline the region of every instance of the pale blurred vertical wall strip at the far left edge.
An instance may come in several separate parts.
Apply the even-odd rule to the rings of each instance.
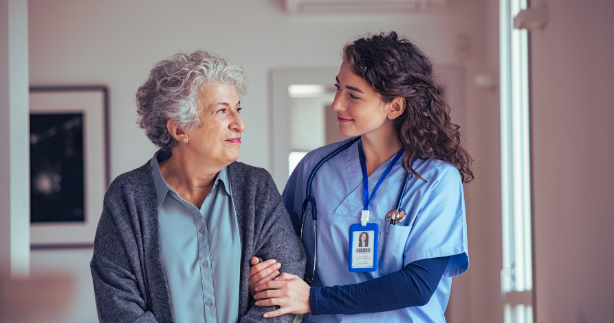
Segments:
[[[28,129],[28,2],[0,0],[0,287],[30,271]]]

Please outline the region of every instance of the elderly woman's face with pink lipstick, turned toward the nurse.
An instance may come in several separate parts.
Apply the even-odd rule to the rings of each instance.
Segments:
[[[188,134],[190,146],[208,163],[226,167],[239,158],[245,123],[237,90],[230,84],[207,84],[201,90],[201,127]]]

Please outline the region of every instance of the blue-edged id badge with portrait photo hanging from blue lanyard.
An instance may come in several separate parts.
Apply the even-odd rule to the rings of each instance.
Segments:
[[[350,226],[349,271],[375,272],[377,270],[377,236],[375,223]]]

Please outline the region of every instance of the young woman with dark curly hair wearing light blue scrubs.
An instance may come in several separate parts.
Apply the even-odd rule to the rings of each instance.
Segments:
[[[257,306],[279,306],[265,318],[302,313],[303,322],[445,322],[452,277],[469,267],[463,182],[473,174],[459,126],[450,120],[432,62],[409,40],[395,32],[360,38],[344,47],[342,58],[332,108],[339,131],[360,141],[325,162],[311,183],[318,220],[314,279],[308,285],[298,276],[278,276],[283,264],[252,259],[250,291]],[[290,176],[283,200],[298,234],[309,174],[351,139],[310,152]],[[386,215],[399,195],[405,217],[389,225]],[[378,227],[369,239],[377,268],[350,272],[349,228],[361,223],[365,209]],[[303,231],[307,276],[316,242],[310,212]],[[360,231],[353,243],[362,239]]]

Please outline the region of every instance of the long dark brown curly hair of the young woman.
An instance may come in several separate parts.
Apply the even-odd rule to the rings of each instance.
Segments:
[[[460,126],[452,123],[443,88],[421,49],[396,32],[382,32],[345,45],[342,58],[385,103],[405,98],[406,108],[395,119],[395,131],[406,153],[402,165],[409,174],[424,180],[411,166],[417,156],[443,160],[459,169],[462,182],[473,180],[472,159],[461,147]]]

